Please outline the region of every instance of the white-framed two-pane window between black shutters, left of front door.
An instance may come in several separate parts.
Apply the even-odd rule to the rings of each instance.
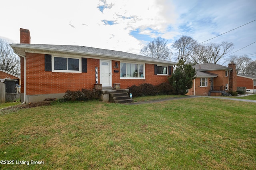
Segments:
[[[81,58],[52,56],[52,61],[55,72],[81,72]]]

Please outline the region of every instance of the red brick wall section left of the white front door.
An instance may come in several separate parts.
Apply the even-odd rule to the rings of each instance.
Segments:
[[[44,54],[26,53],[26,94],[65,93],[94,88],[95,67],[99,59],[87,59],[87,73],[58,73],[44,71]]]

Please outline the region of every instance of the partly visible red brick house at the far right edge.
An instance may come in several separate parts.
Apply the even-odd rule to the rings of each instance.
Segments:
[[[256,75],[237,75],[237,87],[246,87],[247,93],[256,93]]]

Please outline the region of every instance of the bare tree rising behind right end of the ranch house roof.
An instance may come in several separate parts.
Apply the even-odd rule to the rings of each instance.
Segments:
[[[167,40],[158,37],[140,49],[140,53],[147,57],[170,60],[170,49],[167,46]]]

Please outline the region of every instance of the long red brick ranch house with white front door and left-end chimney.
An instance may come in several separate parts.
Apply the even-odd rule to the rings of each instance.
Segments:
[[[22,28],[20,43],[10,46],[20,56],[23,103],[62,98],[67,90],[93,89],[98,84],[121,89],[158,85],[168,81],[176,64],[122,51],[30,44],[30,32]]]

